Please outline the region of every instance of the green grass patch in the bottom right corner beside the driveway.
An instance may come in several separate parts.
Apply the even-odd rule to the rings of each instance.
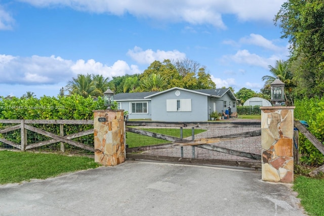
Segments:
[[[308,178],[298,176],[293,189],[298,192],[298,198],[309,215],[324,215],[324,176]]]

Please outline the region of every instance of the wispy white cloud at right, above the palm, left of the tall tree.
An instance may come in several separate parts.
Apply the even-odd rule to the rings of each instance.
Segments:
[[[263,58],[257,54],[252,54],[248,50],[239,50],[235,55],[225,55],[222,58],[223,62],[235,62],[238,64],[247,64],[252,66],[259,66],[263,68],[268,68],[268,65],[272,65],[275,60],[279,59],[276,56],[271,56],[269,58]]]

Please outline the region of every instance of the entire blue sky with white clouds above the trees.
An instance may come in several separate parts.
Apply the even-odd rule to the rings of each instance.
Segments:
[[[77,74],[142,73],[155,60],[206,66],[216,88],[260,92],[289,41],[284,0],[0,0],[0,96],[57,96]]]

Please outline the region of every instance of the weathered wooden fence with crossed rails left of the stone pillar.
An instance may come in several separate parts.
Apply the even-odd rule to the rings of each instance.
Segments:
[[[41,146],[61,142],[61,151],[63,151],[63,152],[64,152],[64,143],[94,152],[94,146],[85,145],[83,143],[71,140],[73,138],[78,138],[78,137],[83,137],[86,135],[93,134],[94,133],[93,128],[88,129],[87,131],[78,132],[78,133],[64,136],[64,125],[66,125],[66,124],[72,124],[72,125],[92,124],[93,125],[93,120],[25,120],[25,119],[22,119],[22,120],[0,120],[0,123],[17,124],[14,126],[6,127],[4,129],[0,129],[0,135],[20,129],[20,138],[21,138],[20,144],[12,142],[10,140],[7,140],[5,138],[1,138],[1,137],[0,137],[0,142],[3,142],[7,145],[18,148],[21,151],[25,151],[25,150],[33,149],[36,147],[41,147]],[[39,128],[31,126],[29,124],[59,124],[60,125],[60,135],[56,135],[56,134],[44,131],[43,129],[39,129]],[[37,134],[44,135],[44,136],[52,138],[52,139],[47,140],[47,141],[37,142],[37,143],[31,143],[31,144],[27,145],[27,130],[32,131]]]

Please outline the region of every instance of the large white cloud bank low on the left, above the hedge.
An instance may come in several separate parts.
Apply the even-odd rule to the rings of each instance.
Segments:
[[[136,65],[118,60],[112,66],[93,59],[73,62],[61,57],[19,57],[0,55],[0,84],[57,84],[67,82],[76,74],[100,74],[104,77],[140,73]]]

